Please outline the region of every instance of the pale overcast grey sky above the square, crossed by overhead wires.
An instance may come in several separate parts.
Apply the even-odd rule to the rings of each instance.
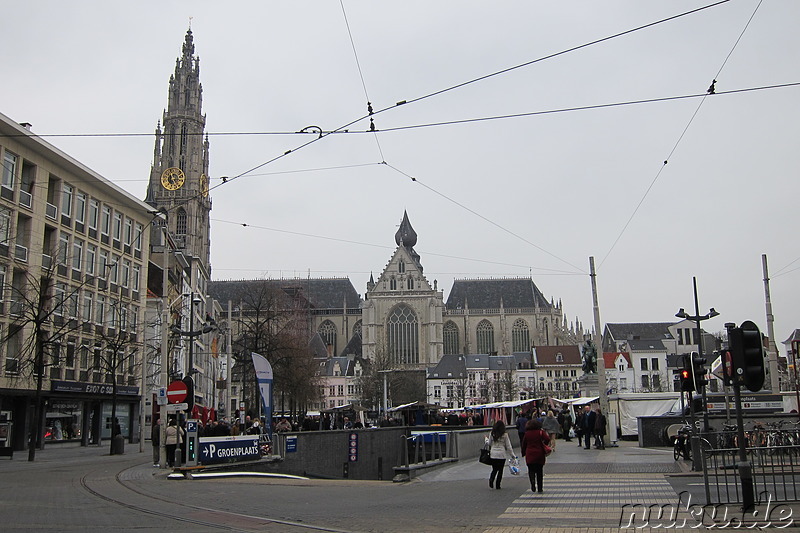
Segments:
[[[701,313],[720,312],[705,329],[766,332],[766,253],[780,342],[800,327],[800,87],[725,92],[800,82],[800,2],[723,2],[415,101],[710,4],[11,2],[0,112],[42,135],[149,134],[48,137],[143,198],[192,17],[212,186],[314,138],[290,132],[386,109],[377,134],[362,120],[214,189],[215,279],[349,276],[363,294],[407,210],[445,298],[454,278],[532,275],[586,328],[594,256],[603,322],[693,312],[697,276]],[[715,78],[706,98],[531,114]]]

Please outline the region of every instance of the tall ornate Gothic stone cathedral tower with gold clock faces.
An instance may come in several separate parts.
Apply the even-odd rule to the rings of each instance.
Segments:
[[[167,227],[178,249],[197,259],[210,275],[211,198],[208,193],[208,137],[203,114],[200,59],[194,55],[192,30],[169,79],[163,124],[156,142],[146,201],[166,210]],[[162,129],[163,127],[163,129]]]

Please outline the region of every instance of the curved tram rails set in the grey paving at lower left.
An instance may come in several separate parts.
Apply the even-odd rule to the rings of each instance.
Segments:
[[[130,511],[141,513],[143,515],[151,517],[164,518],[168,520],[181,522],[184,524],[191,524],[193,526],[201,526],[209,530],[214,529],[221,531],[258,531],[258,532],[281,531],[288,533],[291,532],[301,533],[303,531],[355,533],[354,531],[350,530],[335,529],[331,527],[306,524],[300,521],[277,519],[264,516],[254,516],[251,514],[237,513],[233,511],[224,511],[200,505],[193,505],[190,503],[177,502],[175,500],[147,493],[136,487],[133,487],[129,483],[126,483],[122,479],[122,475],[128,470],[130,469],[125,468],[116,473],[116,475],[114,476],[115,485],[122,487],[126,491],[134,493],[140,497],[152,500],[154,503],[160,504],[161,507],[171,506],[173,508],[176,508],[175,512],[169,512],[167,510],[157,510],[149,508],[143,504],[131,503],[130,501],[125,501],[124,499],[121,499],[119,497],[112,497],[109,496],[108,494],[103,494],[101,490],[92,487],[91,474],[83,475],[80,478],[80,485],[84,491],[91,494],[92,496],[99,498],[103,501],[106,501],[108,503],[123,507]],[[201,515],[204,518],[187,516],[191,513]]]

